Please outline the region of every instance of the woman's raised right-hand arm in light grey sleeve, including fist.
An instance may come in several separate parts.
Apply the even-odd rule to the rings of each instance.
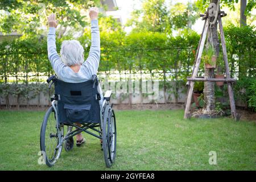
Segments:
[[[97,7],[90,8],[89,15],[91,19],[92,44],[90,46],[89,56],[84,62],[84,65],[92,72],[92,75],[96,75],[98,64],[100,63],[100,30],[98,28]]]

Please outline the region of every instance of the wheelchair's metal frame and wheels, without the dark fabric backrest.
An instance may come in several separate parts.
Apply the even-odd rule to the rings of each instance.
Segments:
[[[49,85],[49,88],[51,88],[55,79],[56,79],[55,76],[51,76],[47,79],[48,83],[50,83],[52,81],[51,84]],[[97,77],[96,77],[96,79],[97,79]],[[92,135],[93,137],[96,137],[96,138],[102,140],[102,149],[104,151],[104,159],[105,159],[106,167],[112,166],[112,164],[114,163],[115,154],[116,154],[117,131],[116,131],[116,121],[115,121],[114,110],[112,109],[112,106],[110,106],[111,94],[112,94],[112,92],[110,90],[108,90],[105,93],[104,100],[103,100],[102,104],[99,101],[100,102],[100,120],[101,120],[100,123],[80,123],[82,126],[77,126],[72,122],[60,123],[58,114],[56,114],[57,113],[57,101],[59,100],[59,96],[57,96],[55,94],[54,97],[51,97],[51,101],[52,101],[51,107],[48,109],[48,111],[44,117],[44,121],[43,121],[42,127],[41,127],[41,134],[40,134],[40,147],[41,147],[41,151],[43,151],[42,155],[46,155],[46,156],[44,156],[43,159],[45,160],[47,166],[52,167],[53,164],[55,164],[56,160],[59,159],[61,150],[63,148],[63,144],[64,144],[64,148],[66,151],[71,150],[73,148],[73,144],[71,143],[71,146],[68,147],[67,146],[68,141],[70,144],[70,142],[73,142],[73,137],[75,137],[75,135],[77,135],[77,134],[82,133],[83,131],[87,134]],[[56,158],[53,160],[53,162],[49,162],[49,160],[47,158],[46,148],[45,148],[46,147],[45,138],[42,138],[43,132],[44,132],[44,137],[46,137],[46,135],[45,135],[46,125],[47,125],[47,121],[48,121],[48,118],[50,115],[48,112],[51,112],[51,110],[54,112],[57,133],[56,134],[50,133],[49,138],[53,138],[53,137],[58,138],[57,146],[55,148],[55,152],[57,152],[57,155],[56,155]],[[46,118],[46,117],[48,117],[48,118]],[[113,118],[113,120],[111,119],[111,117]],[[113,121],[113,123],[110,123],[112,121]],[[112,125],[114,125],[114,126],[112,126]],[[68,126],[68,132],[65,136],[64,136],[64,126]],[[75,130],[72,131],[72,127],[75,127]],[[96,127],[100,128],[100,130],[96,129]],[[111,127],[111,130],[113,130],[113,127],[114,127],[113,133],[111,133],[109,131],[110,127]],[[88,131],[89,129],[96,131],[99,135],[94,134],[91,131]],[[114,143],[113,143],[113,137],[114,137]]]

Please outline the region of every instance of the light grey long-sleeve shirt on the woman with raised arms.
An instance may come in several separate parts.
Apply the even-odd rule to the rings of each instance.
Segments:
[[[96,75],[98,64],[100,63],[100,31],[98,28],[98,20],[91,21],[92,27],[92,44],[90,46],[89,56],[81,65],[79,72],[75,73],[70,67],[61,61],[56,51],[55,31],[56,28],[50,27],[47,39],[48,57],[51,61],[52,68],[57,77],[65,82],[79,83],[88,81],[92,75]]]

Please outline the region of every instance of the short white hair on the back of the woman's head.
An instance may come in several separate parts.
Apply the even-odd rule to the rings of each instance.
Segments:
[[[84,63],[84,48],[77,40],[64,40],[60,49],[61,60],[72,66]]]

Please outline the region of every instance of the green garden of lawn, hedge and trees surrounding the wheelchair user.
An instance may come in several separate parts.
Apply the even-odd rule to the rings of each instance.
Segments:
[[[192,118],[184,119],[187,78],[194,71],[201,41],[201,31],[192,27],[209,3],[218,2],[228,14],[222,20],[240,120],[232,119],[227,82],[208,85],[203,81],[195,82]],[[55,74],[47,55],[47,16],[59,16],[57,52],[64,40],[76,39],[88,57],[92,42],[86,10],[92,6],[101,8],[97,75],[104,92],[113,90],[111,103],[117,118],[117,156],[109,169],[255,170],[256,3],[250,0],[245,8],[240,1],[228,0],[145,0],[141,9],[131,11],[125,24],[106,15],[108,1],[0,3],[0,170],[108,169],[100,140],[85,134],[84,146],[63,150],[54,167],[39,164],[40,127],[55,89],[46,82]],[[242,9],[247,23],[240,23]],[[211,31],[216,31],[215,37]],[[209,32],[197,76],[213,73],[214,78],[225,78],[220,34],[214,27]],[[148,87],[143,92],[143,84],[149,83],[152,92]],[[152,94],[157,97],[151,98]],[[208,98],[214,98],[213,102]],[[220,116],[197,115],[209,105]]]

